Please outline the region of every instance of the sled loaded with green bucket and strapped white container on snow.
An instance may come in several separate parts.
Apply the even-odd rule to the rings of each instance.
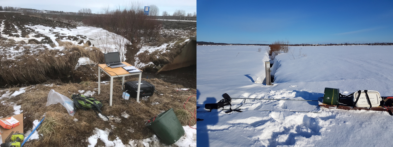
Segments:
[[[323,97],[318,98],[318,105],[330,109],[387,111],[393,115],[393,97],[380,96],[378,91],[356,91],[349,95],[340,93],[340,89],[325,88]]]

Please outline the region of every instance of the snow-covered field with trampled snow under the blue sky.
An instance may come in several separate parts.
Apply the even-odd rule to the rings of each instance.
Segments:
[[[217,103],[224,93],[232,98],[317,100],[324,88],[330,87],[339,88],[345,95],[375,90],[381,96],[393,96],[393,46],[292,47],[294,56],[282,53],[276,57],[274,85],[269,86],[255,83],[258,77],[264,77],[263,62],[269,60],[266,51],[257,52],[259,47],[197,46],[197,118],[204,119],[197,122],[198,146],[393,143],[383,139],[393,130],[393,116],[384,111],[326,109],[318,102],[284,100],[246,100],[241,113],[204,109],[205,103]],[[300,49],[307,56],[299,56]],[[235,108],[243,100],[231,103]]]

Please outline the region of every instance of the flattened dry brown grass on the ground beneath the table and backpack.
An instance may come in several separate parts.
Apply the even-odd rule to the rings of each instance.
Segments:
[[[136,81],[138,78],[131,77],[127,81]],[[113,116],[121,118],[120,122],[103,121],[101,118],[97,118],[93,111],[77,110],[74,116],[70,116],[66,109],[61,104],[45,106],[48,98],[50,89],[56,92],[70,97],[73,93],[78,93],[78,90],[84,91],[95,91],[95,98],[97,100],[108,100],[110,93],[110,85],[101,84],[101,94],[97,94],[97,82],[81,82],[77,83],[60,83],[59,81],[50,81],[48,83],[54,83],[52,87],[44,84],[33,85],[26,88],[26,93],[22,93],[16,97],[6,99],[5,103],[14,102],[17,105],[21,105],[24,116],[24,130],[27,131],[32,128],[32,122],[34,120],[41,120],[43,115],[46,115],[45,120],[42,122],[42,126],[38,129],[40,134],[39,140],[34,140],[26,143],[26,147],[86,147],[88,142],[86,139],[93,133],[94,128],[105,130],[110,129],[110,125],[115,125],[115,129],[112,130],[113,135],[109,136],[110,140],[114,140],[116,136],[123,141],[128,143],[130,139],[143,139],[149,138],[154,132],[146,127],[144,123],[154,115],[173,108],[174,111],[179,115],[180,122],[182,125],[188,125],[189,115],[185,113],[183,105],[189,98],[189,101],[185,105],[187,109],[194,112],[196,109],[196,97],[193,96],[195,89],[190,91],[178,91],[178,88],[184,88],[180,85],[172,85],[171,83],[163,82],[159,79],[142,79],[155,85],[156,90],[163,94],[154,93],[150,96],[147,101],[141,100],[141,103],[137,103],[134,98],[130,99],[126,105],[125,101],[121,99],[121,92],[116,92],[121,83],[120,78],[114,80],[114,93],[112,99],[112,107],[107,102],[103,102],[102,107],[103,114],[107,116]],[[57,86],[60,84],[60,86]],[[116,85],[116,86],[115,86]],[[118,86],[118,87],[117,87]],[[30,89],[31,88],[31,89]],[[15,90],[15,89],[6,89]],[[4,91],[2,91],[4,93]],[[158,105],[151,105],[152,102],[159,102]],[[12,107],[1,107],[0,116],[12,115]],[[126,112],[130,116],[128,118],[121,117],[121,113]],[[182,113],[182,114],[180,114]],[[184,117],[185,116],[185,117]],[[77,118],[78,122],[74,122],[73,119]],[[195,125],[195,121],[191,122],[191,125]],[[131,133],[127,129],[134,129]],[[127,134],[127,135],[126,135]],[[100,144],[100,143],[98,143]],[[98,145],[97,144],[97,145]]]

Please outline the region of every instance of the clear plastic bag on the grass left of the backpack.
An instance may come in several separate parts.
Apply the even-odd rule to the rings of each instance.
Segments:
[[[63,94],[55,92],[53,89],[51,89],[48,94],[48,102],[46,102],[45,106],[57,103],[61,103],[61,105],[63,105],[67,109],[68,114],[70,114],[71,116],[75,114],[73,101],[70,100],[67,96],[64,96]]]

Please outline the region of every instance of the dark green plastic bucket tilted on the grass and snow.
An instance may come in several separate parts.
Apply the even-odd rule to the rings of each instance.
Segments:
[[[145,125],[167,145],[175,143],[184,134],[183,126],[174,114],[173,108],[158,114],[153,122],[146,122]]]

